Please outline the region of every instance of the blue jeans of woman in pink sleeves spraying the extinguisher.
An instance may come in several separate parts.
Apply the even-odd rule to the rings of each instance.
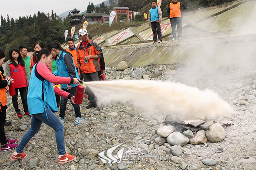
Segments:
[[[25,133],[19,143],[19,146],[16,148],[17,153],[20,154],[23,152],[24,147],[27,145],[29,140],[38,133],[42,122],[44,122],[55,130],[55,138],[59,155],[66,154],[64,141],[64,126],[60,122],[59,118],[57,118],[57,116],[52,111],[50,111],[47,106],[45,106],[45,108],[49,120],[47,120],[45,112],[39,114],[32,114],[30,129]]]

